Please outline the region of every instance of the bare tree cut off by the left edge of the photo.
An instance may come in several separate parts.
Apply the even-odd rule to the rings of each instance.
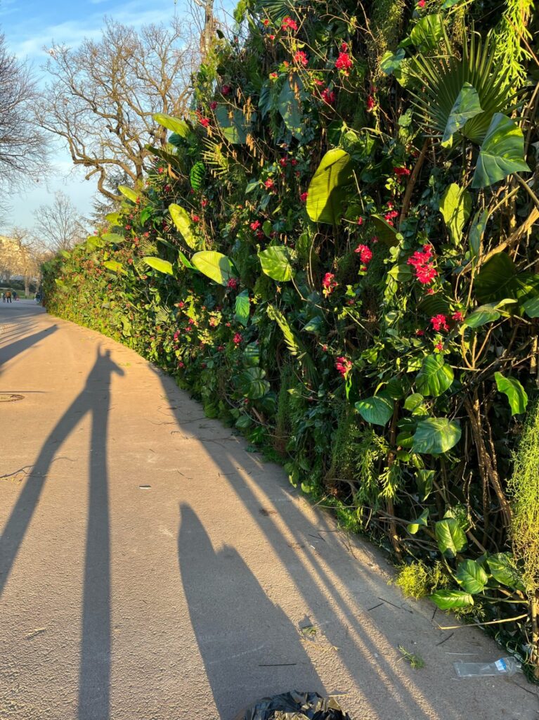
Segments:
[[[0,192],[39,179],[47,166],[47,142],[35,122],[37,97],[30,68],[6,49],[0,35]]]

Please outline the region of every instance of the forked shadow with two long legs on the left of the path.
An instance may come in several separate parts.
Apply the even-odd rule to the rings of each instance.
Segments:
[[[111,649],[109,496],[107,426],[112,374],[124,371],[101,354],[76,397],[43,444],[0,537],[0,597],[9,579],[24,536],[60,446],[86,413],[91,413],[89,505],[84,559],[81,664],[78,685],[78,719],[109,718]]]

